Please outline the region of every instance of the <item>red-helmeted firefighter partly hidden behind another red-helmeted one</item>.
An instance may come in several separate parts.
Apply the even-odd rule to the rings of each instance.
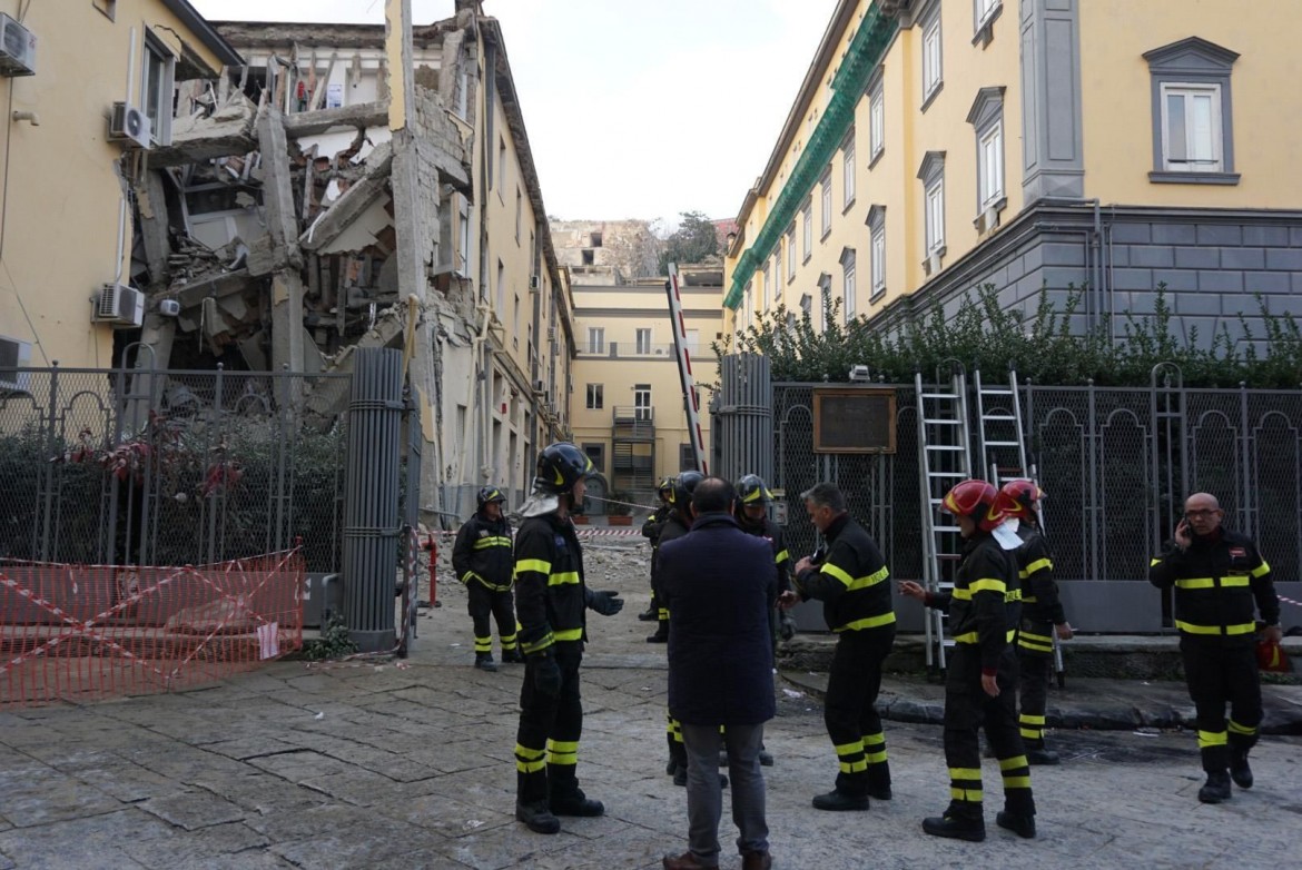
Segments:
[[[1001,492],[1009,516],[1019,521],[1017,535],[1022,539],[1017,548],[1017,573],[1022,585],[1022,619],[1017,629],[1022,744],[1031,765],[1057,765],[1057,753],[1044,748],[1044,709],[1053,675],[1053,634],[1070,641],[1073,630],[1053,582],[1053,557],[1040,533],[1044,491],[1034,481],[1009,481]]]

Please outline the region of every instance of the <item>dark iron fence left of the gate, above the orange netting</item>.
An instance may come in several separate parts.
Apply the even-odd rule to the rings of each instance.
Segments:
[[[185,565],[288,550],[337,570],[348,375],[22,369],[0,393],[0,556]]]

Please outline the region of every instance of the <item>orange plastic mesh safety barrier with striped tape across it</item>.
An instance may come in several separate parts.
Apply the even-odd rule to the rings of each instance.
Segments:
[[[0,709],[169,692],[302,649],[299,550],[184,568],[0,561]]]

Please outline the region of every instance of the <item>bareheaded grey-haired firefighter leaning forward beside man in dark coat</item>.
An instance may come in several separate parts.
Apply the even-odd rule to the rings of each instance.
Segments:
[[[875,706],[881,664],[894,646],[891,570],[878,544],[846,513],[845,495],[835,483],[818,483],[801,499],[827,540],[827,556],[796,563],[794,590],[784,593],[781,603],[790,608],[798,600],[823,602],[823,617],[838,636],[823,720],[840,772],[831,792],[814,797],[814,806],[866,810],[870,796],[891,800],[887,740]]]

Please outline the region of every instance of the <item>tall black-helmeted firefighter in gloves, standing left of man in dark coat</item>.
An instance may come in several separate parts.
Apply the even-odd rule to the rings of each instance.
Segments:
[[[583,583],[583,555],[570,512],[583,503],[587,455],[568,442],[538,457],[534,492],[516,535],[516,613],[525,654],[516,733],[516,818],[538,834],[556,834],[557,815],[602,815],[605,807],[578,787],[574,768],[583,731],[579,664],[586,608],[604,616],[624,602]]]

